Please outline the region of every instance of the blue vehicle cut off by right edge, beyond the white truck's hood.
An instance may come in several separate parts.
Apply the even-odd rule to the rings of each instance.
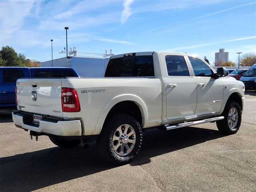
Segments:
[[[245,90],[256,90],[256,64],[253,64],[240,78],[244,82]]]

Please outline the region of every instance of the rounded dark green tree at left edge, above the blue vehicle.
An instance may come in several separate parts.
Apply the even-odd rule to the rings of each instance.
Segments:
[[[2,47],[1,51],[1,60],[4,62],[1,63],[1,66],[21,66],[20,59],[18,54],[10,46]]]

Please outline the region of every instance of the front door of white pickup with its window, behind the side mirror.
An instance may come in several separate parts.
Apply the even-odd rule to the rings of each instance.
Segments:
[[[194,72],[196,82],[197,103],[196,116],[220,112],[223,102],[223,84],[220,79],[212,78],[212,69],[202,60],[196,57],[188,57]]]

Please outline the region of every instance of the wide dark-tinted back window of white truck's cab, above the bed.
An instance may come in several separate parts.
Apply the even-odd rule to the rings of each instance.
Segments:
[[[133,56],[110,59],[105,77],[142,77],[154,76],[153,56]]]

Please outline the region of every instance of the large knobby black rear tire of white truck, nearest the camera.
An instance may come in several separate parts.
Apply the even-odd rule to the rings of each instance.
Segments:
[[[135,144],[132,150],[127,155],[124,154],[124,156],[122,156],[115,151],[117,148],[114,150],[113,141],[118,142],[117,140],[114,140],[114,137],[116,136],[115,134],[118,129],[124,125],[129,125],[132,127],[136,140],[134,141]],[[132,135],[132,137],[134,137],[134,135]],[[131,137],[129,136],[129,138]],[[106,122],[104,123],[102,131],[100,132],[96,142],[98,152],[104,160],[118,165],[128,164],[140,152],[140,148],[142,146],[142,128],[140,127],[138,121],[132,116],[126,114],[114,114],[106,119]],[[120,145],[120,143],[118,145]]]

